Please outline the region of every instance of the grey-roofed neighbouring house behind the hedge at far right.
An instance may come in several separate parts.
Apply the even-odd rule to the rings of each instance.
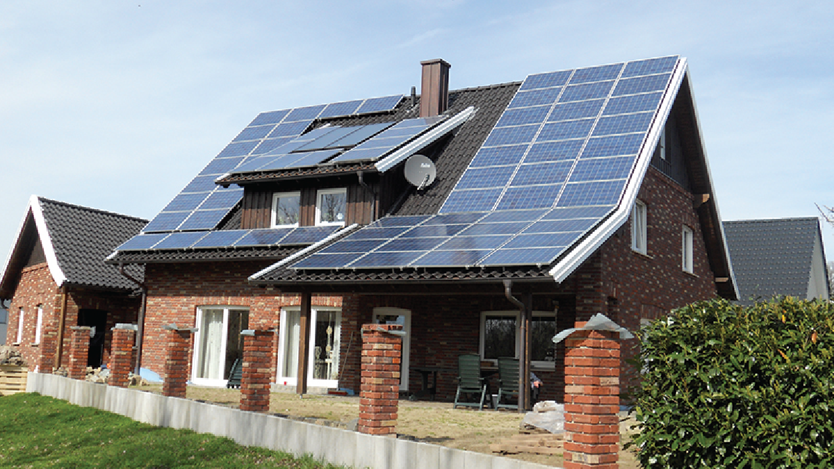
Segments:
[[[725,221],[724,232],[741,305],[774,295],[830,298],[819,219]]]

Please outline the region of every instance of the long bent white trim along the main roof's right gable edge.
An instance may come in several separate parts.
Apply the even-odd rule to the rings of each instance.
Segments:
[[[565,258],[560,260],[550,270],[550,275],[553,275],[556,282],[561,283],[568,275],[579,268],[620,226],[625,224],[625,221],[631,215],[631,206],[634,205],[634,201],[637,199],[637,192],[640,190],[640,186],[643,184],[643,177],[646,176],[646,171],[649,169],[651,155],[655,153],[657,139],[661,136],[663,126],[666,124],[666,119],[669,117],[672,104],[675,103],[675,98],[681,90],[681,83],[683,83],[683,78],[687,72],[686,58],[681,58],[676,65],[675,71],[672,73],[669,88],[666,89],[666,93],[663,95],[660,108],[657,110],[656,119],[651,123],[649,133],[646,135],[646,143],[643,144],[640,154],[637,155],[637,164],[629,176],[628,182],[625,184],[625,192],[622,199],[620,199],[620,204],[617,205],[613,214],[593,229],[585,240],[575,245]]]

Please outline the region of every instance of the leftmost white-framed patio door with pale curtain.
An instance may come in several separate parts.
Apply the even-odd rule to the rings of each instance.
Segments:
[[[197,309],[191,379],[203,386],[226,386],[236,359],[244,358],[249,310],[239,306],[201,306]]]

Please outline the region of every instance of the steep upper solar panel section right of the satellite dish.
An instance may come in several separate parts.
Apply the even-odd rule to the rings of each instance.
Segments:
[[[440,213],[615,204],[676,63],[530,75]]]

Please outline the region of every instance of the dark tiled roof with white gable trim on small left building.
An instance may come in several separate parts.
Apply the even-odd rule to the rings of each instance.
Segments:
[[[104,258],[147,223],[145,219],[33,195],[3,269],[0,298],[12,297],[38,241],[58,286],[134,290],[136,285],[116,266],[104,264]],[[127,271],[133,278],[143,279],[142,266],[130,266]]]

